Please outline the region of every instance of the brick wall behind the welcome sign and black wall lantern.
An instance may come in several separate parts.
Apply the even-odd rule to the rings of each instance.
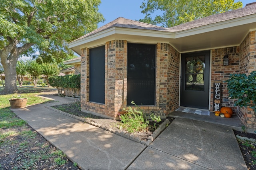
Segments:
[[[228,55],[229,65],[223,65],[224,55]],[[231,107],[234,113],[237,113],[234,107],[234,100],[228,99],[227,83],[230,74],[239,72],[240,47],[226,47],[212,50],[212,76],[211,76],[211,98],[210,110],[213,110],[213,83],[214,81],[222,81],[222,100],[221,106]]]

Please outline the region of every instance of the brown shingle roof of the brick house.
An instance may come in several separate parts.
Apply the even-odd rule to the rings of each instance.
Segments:
[[[165,31],[165,32],[179,32],[179,31],[196,28],[196,27],[201,27],[204,25],[209,25],[209,24],[218,23],[218,22],[222,22],[222,21],[232,20],[235,18],[241,18],[244,16],[252,15],[252,14],[256,14],[256,3],[252,3],[248,6],[245,6],[244,8],[224,12],[221,14],[215,14],[215,15],[208,16],[205,18],[200,18],[198,20],[190,21],[190,22],[183,23],[183,24],[180,24],[180,25],[177,25],[174,27],[170,27],[170,28],[160,27],[160,26],[143,23],[143,22],[139,22],[139,21],[134,21],[134,20],[128,20],[128,19],[120,17],[120,18],[117,18],[116,20],[111,21],[110,23],[107,23],[106,25],[104,25],[104,26],[102,26],[102,27],[100,27],[100,28],[74,40],[74,41],[83,39],[85,37],[89,37],[91,35],[94,35],[96,33],[104,31],[106,29],[110,29],[112,27],[145,29],[145,30],[152,30],[152,31]]]

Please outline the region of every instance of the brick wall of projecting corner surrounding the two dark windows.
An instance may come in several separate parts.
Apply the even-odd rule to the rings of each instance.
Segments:
[[[127,41],[105,44],[105,104],[89,102],[89,52],[88,48],[82,49],[81,110],[118,119],[118,113],[127,108]],[[145,113],[164,116],[178,108],[179,65],[178,51],[170,44],[156,44],[156,104],[141,106]]]

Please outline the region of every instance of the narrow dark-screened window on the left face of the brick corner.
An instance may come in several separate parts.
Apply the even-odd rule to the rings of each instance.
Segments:
[[[89,101],[105,103],[105,46],[90,49]]]

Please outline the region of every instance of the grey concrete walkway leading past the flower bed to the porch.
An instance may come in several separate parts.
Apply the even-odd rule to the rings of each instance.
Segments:
[[[230,126],[176,117],[147,147],[45,108],[56,104],[12,111],[84,170],[247,170]]]

